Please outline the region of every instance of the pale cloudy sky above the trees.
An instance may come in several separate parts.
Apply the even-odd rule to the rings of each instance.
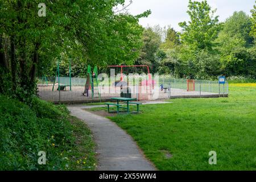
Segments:
[[[126,0],[126,3],[128,2],[129,0]],[[216,15],[220,16],[220,22],[224,22],[234,11],[242,10],[251,15],[250,10],[253,9],[255,0],[208,0],[208,3],[213,9],[217,9]],[[171,25],[176,31],[181,31],[178,23],[189,20],[186,13],[187,6],[188,0],[133,0],[128,9],[133,15],[141,14],[146,10],[152,11],[148,18],[139,20],[143,27],[157,24],[161,27]]]

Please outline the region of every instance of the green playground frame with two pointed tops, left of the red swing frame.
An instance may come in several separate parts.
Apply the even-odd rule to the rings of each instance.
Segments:
[[[87,67],[87,78],[85,83],[85,89],[84,93],[82,93],[82,96],[89,97],[89,90],[92,90],[92,98],[94,98],[96,91],[98,91],[98,97],[100,98],[100,90],[98,90],[98,68],[97,66],[94,67],[93,73],[92,68],[90,65]]]

